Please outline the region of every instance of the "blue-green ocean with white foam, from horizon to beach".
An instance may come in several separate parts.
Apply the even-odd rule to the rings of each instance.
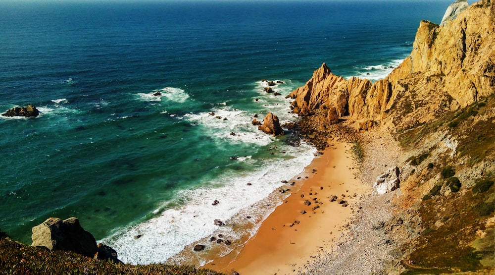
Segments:
[[[450,2],[2,0],[0,111],[41,115],[0,117],[0,229],[31,243],[47,218],[77,217],[133,264],[251,236],[316,153],[254,115],[296,121],[285,96],[323,62],[385,77]]]

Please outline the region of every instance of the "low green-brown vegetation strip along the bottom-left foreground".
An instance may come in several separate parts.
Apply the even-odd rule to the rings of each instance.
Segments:
[[[74,252],[51,252],[3,237],[0,239],[0,274],[220,275],[192,266],[115,264],[94,260]]]

